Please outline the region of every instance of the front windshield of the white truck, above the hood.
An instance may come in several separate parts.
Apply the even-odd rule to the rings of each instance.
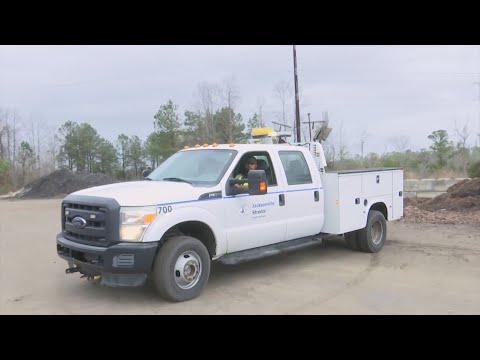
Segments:
[[[213,186],[220,182],[236,155],[235,150],[192,150],[173,154],[147,179]]]

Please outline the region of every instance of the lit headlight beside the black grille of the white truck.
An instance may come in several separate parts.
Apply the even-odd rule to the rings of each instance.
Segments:
[[[141,241],[143,233],[157,217],[155,206],[120,209],[120,240]]]

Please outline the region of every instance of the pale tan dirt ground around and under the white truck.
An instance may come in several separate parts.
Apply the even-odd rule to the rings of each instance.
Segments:
[[[480,314],[480,226],[388,224],[378,254],[344,241],[235,267],[214,264],[202,295],[172,304],[152,289],[66,275],[56,255],[60,200],[0,200],[0,314]]]

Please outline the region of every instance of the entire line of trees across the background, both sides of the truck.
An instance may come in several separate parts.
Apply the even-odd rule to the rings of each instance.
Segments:
[[[289,83],[280,82],[273,93],[279,109],[275,120],[293,124]],[[22,122],[15,111],[0,108],[0,194],[59,168],[139,179],[143,169],[157,167],[185,144],[245,143],[252,128],[272,125],[271,119],[263,119],[264,98],[258,98],[256,111],[248,120],[237,112],[239,91],[232,78],[221,84],[199,84],[197,98],[196,109],[183,114],[172,100],[160,105],[145,140],[130,134],[108,140],[88,122],[66,121],[52,129],[41,121]],[[468,145],[469,139],[478,136],[480,140],[480,134],[468,124],[455,125],[455,141],[439,129],[426,136],[429,148],[414,151],[408,137],[398,136],[388,139],[380,154],[366,152],[372,139],[366,130],[355,136],[357,144],[351,144],[341,122],[331,127],[333,136],[324,143],[331,169],[387,166],[404,167],[410,177],[480,176],[480,147]],[[308,132],[303,128],[302,137]]]

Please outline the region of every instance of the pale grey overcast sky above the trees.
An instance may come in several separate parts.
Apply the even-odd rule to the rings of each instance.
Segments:
[[[352,152],[363,130],[377,152],[400,135],[428,147],[433,130],[453,136],[455,121],[480,132],[478,46],[297,46],[297,58],[302,117],[328,111],[332,138],[343,123]],[[292,46],[0,46],[0,107],[54,129],[89,122],[109,140],[145,139],[161,104],[195,110],[198,83],[230,77],[245,121],[262,97],[264,119],[278,121],[273,88],[293,87]],[[293,123],[293,98],[289,110]]]

